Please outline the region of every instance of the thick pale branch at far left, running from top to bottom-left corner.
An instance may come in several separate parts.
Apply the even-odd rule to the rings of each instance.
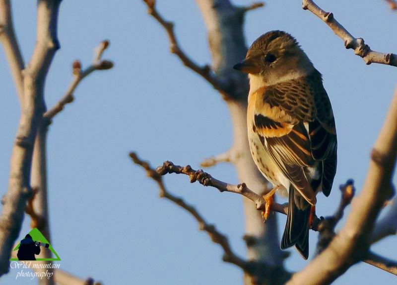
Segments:
[[[18,237],[29,185],[32,153],[37,129],[45,110],[44,85],[47,72],[59,49],[58,10],[61,0],[39,0],[37,4],[37,42],[24,70],[23,108],[12,149],[8,191],[3,197],[0,218],[0,276],[9,271],[10,252]]]

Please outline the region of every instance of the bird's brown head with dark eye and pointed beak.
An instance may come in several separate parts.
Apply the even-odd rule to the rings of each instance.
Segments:
[[[283,31],[260,36],[233,68],[248,73],[251,82],[256,79],[264,85],[306,76],[314,69],[295,38]]]

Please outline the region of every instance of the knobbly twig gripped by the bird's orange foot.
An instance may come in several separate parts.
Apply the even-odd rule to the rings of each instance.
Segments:
[[[264,197],[261,196],[260,194],[255,193],[253,190],[250,190],[245,183],[239,185],[228,184],[213,178],[211,175],[209,175],[206,172],[203,172],[201,169],[194,170],[190,165],[187,165],[185,167],[174,165],[170,161],[164,162],[162,166],[156,169],[156,171],[160,175],[166,175],[171,173],[185,174],[189,176],[191,183],[198,181],[203,186],[214,187],[220,192],[226,191],[226,192],[241,194],[252,200],[255,203],[255,206],[258,210],[262,210],[262,211],[265,210],[266,202]],[[271,210],[282,214],[286,214],[288,211],[288,203],[279,204],[273,202],[271,206]]]

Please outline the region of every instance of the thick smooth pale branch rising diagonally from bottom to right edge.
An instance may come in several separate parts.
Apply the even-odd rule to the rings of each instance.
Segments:
[[[385,201],[393,194],[391,180],[396,155],[397,90],[372,150],[363,190],[354,199],[346,224],[327,249],[295,274],[287,284],[330,284],[351,265],[365,258],[376,218]]]

